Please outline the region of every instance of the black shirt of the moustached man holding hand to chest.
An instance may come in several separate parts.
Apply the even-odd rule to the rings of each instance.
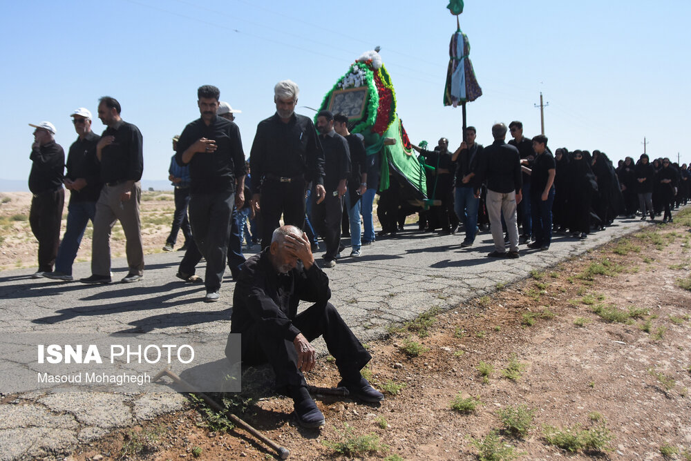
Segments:
[[[178,139],[176,161],[182,163],[182,154],[202,137],[216,141],[214,152],[198,152],[189,161],[189,192],[219,193],[235,190],[235,179],[245,176],[245,152],[240,129],[234,122],[214,115],[209,126],[196,119],[182,130]]]

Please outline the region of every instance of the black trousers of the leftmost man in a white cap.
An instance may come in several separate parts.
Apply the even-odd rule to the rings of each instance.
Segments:
[[[65,190],[48,190],[31,199],[29,224],[39,241],[39,272],[53,271],[60,244],[62,208],[65,206]]]

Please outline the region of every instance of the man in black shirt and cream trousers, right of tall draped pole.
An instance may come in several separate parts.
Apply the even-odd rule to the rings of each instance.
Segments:
[[[522,199],[522,177],[518,149],[506,144],[507,126],[492,126],[494,142],[484,148],[484,161],[480,168],[477,183],[487,181],[487,214],[494,240],[494,251],[488,257],[518,257],[518,226],[516,224],[516,206]],[[480,188],[475,190],[475,197],[480,197]],[[507,223],[509,234],[509,253],[506,252],[504,233],[502,232],[502,215]]]

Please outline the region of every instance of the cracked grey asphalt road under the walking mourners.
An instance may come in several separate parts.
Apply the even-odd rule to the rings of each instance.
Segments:
[[[618,219],[584,240],[556,235],[549,251],[521,246],[520,259],[486,257],[493,250],[489,233],[478,235],[475,246],[461,248],[463,235],[422,234],[409,225],[399,237],[363,246],[361,257],[344,257],[325,271],[332,303],[356,335],[368,341],[384,334],[389,324],[410,320],[433,306],[457,307],[490,293],[498,283],[515,282],[533,269],[553,266],[649,225]],[[349,254],[349,249],[343,252]],[[207,304],[201,301],[202,284],[176,279],[181,257],[178,252],[146,256],[144,279],[135,284],[88,286],[30,279],[35,269],[3,271],[0,333],[227,333],[234,288],[228,271],[220,302]],[[203,276],[203,267],[198,273]],[[75,277],[88,275],[88,263],[75,264]],[[124,275],[124,259],[114,259],[113,279]],[[316,344],[325,351],[323,342]],[[174,393],[35,392],[3,397],[2,460],[68,453],[77,441],[93,440],[184,404]]]

